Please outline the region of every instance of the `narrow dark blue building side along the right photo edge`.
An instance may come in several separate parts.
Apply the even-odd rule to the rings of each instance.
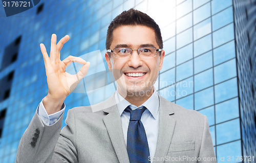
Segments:
[[[239,89],[242,151],[255,156],[256,86],[255,86],[255,1],[234,1],[234,21]],[[245,161],[249,162],[249,161]]]

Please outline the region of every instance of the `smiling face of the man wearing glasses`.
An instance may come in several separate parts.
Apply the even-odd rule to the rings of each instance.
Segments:
[[[159,48],[156,42],[155,31],[146,26],[121,26],[113,31],[113,41],[110,49],[143,47]],[[110,71],[117,80],[119,94],[127,96],[152,95],[153,85],[157,80],[158,72],[162,68],[164,51],[155,57],[140,58],[137,51],[132,51],[130,58],[115,58],[113,54],[109,57],[105,54]],[[139,73],[138,77],[133,73]]]

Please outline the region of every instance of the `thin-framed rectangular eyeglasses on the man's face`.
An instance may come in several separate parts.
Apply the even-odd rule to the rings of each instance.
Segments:
[[[162,49],[156,49],[155,47],[131,49],[131,48],[114,48],[109,49],[107,52],[113,53],[115,58],[129,58],[133,51],[137,51],[141,58],[151,58],[157,55],[157,52],[161,52]]]

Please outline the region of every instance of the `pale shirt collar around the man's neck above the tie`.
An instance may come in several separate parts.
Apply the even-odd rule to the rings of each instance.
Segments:
[[[131,104],[130,102],[128,102],[127,100],[125,100],[119,93],[118,91],[115,92],[115,101],[116,101],[116,105],[118,108],[118,111],[120,113],[120,116],[122,115],[124,109],[131,105],[131,108],[141,108],[142,106],[145,106],[148,111],[150,111],[150,113],[153,115],[154,119],[157,118],[157,113],[158,113],[158,109],[159,109],[159,97],[157,92],[154,90],[153,95],[147,99],[147,101],[145,101],[142,105],[140,106],[135,106],[133,104]]]

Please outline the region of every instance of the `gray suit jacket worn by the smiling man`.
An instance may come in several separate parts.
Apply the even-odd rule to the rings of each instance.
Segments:
[[[205,115],[160,97],[160,121],[154,162],[216,162]],[[121,118],[115,97],[68,111],[46,126],[35,113],[20,140],[16,162],[122,162],[128,163]]]

